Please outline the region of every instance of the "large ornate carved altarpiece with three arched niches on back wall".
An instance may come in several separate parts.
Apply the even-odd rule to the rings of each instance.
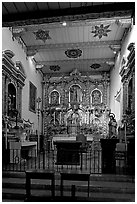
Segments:
[[[109,74],[82,75],[74,69],[66,76],[46,76],[43,81],[44,148],[54,141],[87,141],[109,134]]]

